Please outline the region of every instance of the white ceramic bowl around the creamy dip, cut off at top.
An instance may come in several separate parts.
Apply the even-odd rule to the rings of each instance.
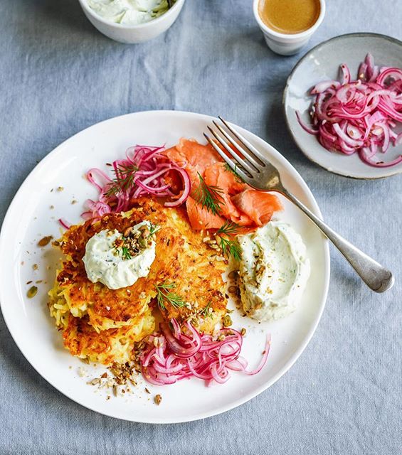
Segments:
[[[149,41],[164,33],[176,21],[186,0],[176,0],[176,3],[162,16],[135,26],[107,21],[90,8],[87,0],[78,1],[85,16],[100,33],[120,43],[135,44]]]

